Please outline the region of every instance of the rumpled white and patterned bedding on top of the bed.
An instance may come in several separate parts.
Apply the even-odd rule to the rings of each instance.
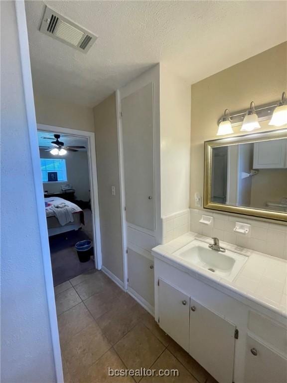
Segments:
[[[45,202],[49,204],[49,206],[46,206],[46,217],[56,216],[62,226],[68,222],[74,221],[73,213],[82,211],[82,209],[75,203],[60,197],[49,197],[44,199]],[[62,205],[63,207],[56,207],[57,205]]]

